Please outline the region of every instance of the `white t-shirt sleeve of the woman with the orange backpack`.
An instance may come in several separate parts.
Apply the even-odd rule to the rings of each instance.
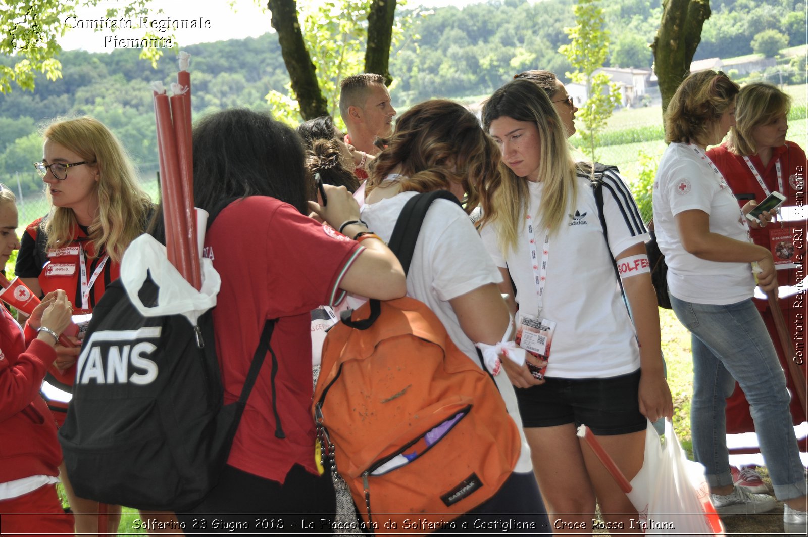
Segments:
[[[432,287],[437,297],[448,301],[482,285],[502,281],[469,216],[449,201],[436,200],[434,205],[438,204],[440,210],[435,207],[427,213],[427,222],[432,220],[428,227],[440,230],[427,235],[431,250],[427,259],[432,260]]]

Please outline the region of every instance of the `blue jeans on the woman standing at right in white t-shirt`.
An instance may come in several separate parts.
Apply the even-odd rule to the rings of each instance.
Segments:
[[[806,494],[789,391],[763,319],[751,298],[734,304],[698,304],[671,295],[676,317],[690,331],[693,455],[707,469],[711,487],[732,484],[726,449],[726,398],[737,380],[747,395],[774,494],[779,500]]]

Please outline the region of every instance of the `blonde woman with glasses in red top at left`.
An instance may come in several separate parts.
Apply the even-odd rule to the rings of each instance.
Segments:
[[[42,154],[34,166],[52,205],[48,215],[32,222],[23,234],[15,272],[35,294],[64,290],[74,315],[89,314],[106,286],[119,277],[120,258],[145,229],[152,203],[138,186],[123,146],[91,117],[48,126]],[[26,339],[32,336],[36,335],[26,325]],[[57,345],[56,350],[46,379],[69,391],[79,348]],[[64,421],[65,412],[54,412],[57,422]],[[62,480],[74,513],[98,512],[97,502],[74,495],[64,471]],[[120,508],[116,511],[107,519],[113,533]],[[76,516],[76,531],[98,532],[95,515]],[[101,533],[106,532],[102,528]]]

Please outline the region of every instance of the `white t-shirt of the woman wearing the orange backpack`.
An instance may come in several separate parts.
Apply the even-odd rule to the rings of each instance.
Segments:
[[[361,218],[381,239],[388,242],[393,235],[398,215],[416,192],[402,192],[361,209]],[[502,276],[483,247],[477,231],[456,203],[436,200],[423,220],[415,243],[410,270],[406,278],[406,294],[424,302],[444,323],[452,341],[470,360],[480,366],[472,340],[461,329],[449,300],[473,291],[482,285],[499,284]],[[505,400],[508,413],[520,429],[522,450],[515,471],[532,470],[530,448],[522,431],[522,419],[516,404],[516,393],[507,374],[501,372],[494,380]]]

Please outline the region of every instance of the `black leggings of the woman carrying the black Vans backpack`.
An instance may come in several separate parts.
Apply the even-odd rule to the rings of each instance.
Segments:
[[[190,513],[178,513],[185,535],[332,535],[336,510],[330,472],[295,465],[283,484],[225,466],[221,479]]]

